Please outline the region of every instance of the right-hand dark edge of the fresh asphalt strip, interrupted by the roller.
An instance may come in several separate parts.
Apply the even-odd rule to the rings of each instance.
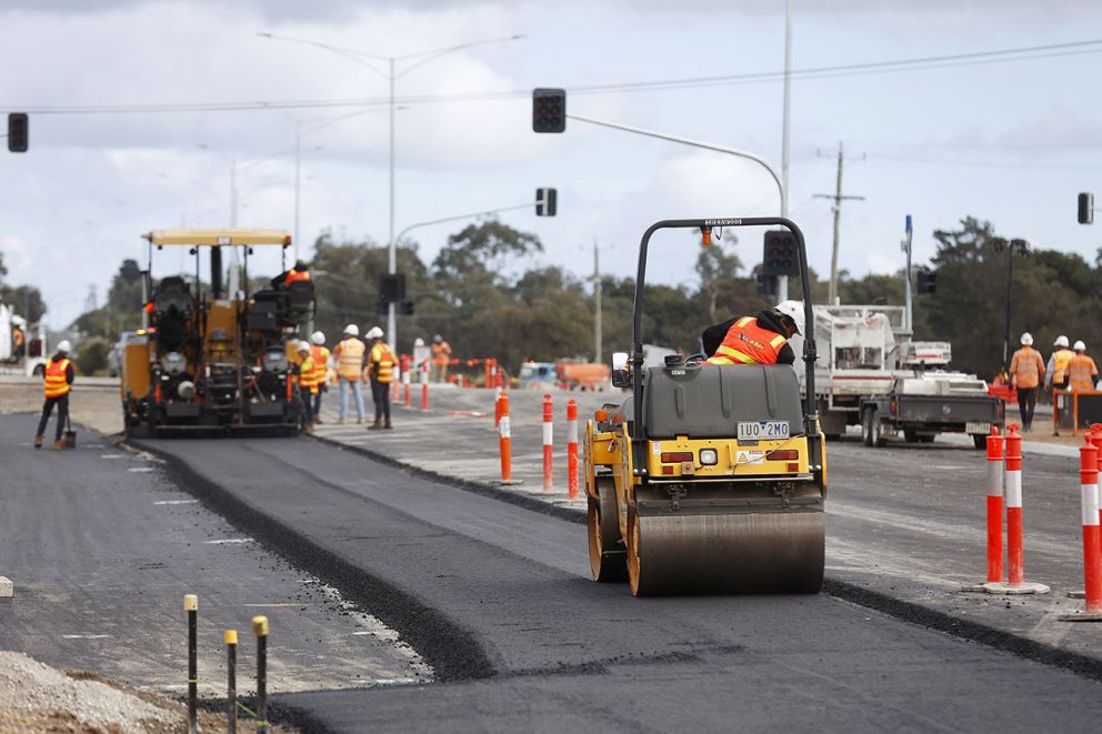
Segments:
[[[502,500],[510,504],[520,505],[522,507],[560,517],[562,520],[577,523],[585,522],[585,514],[580,510],[549,504],[538,496],[518,494],[491,484],[463,480],[431,470],[421,469],[398,459],[392,459],[381,454],[372,449],[349,445],[341,443],[335,439],[328,439],[317,434],[312,434],[310,438],[315,441],[367,456],[368,459],[377,461],[381,464],[400,469],[413,476],[429,479],[467,492]],[[941,612],[918,602],[908,602],[896,599],[889,594],[873,591],[848,581],[826,577],[823,581],[823,593],[828,596],[833,596],[834,599],[881,612],[882,614],[886,614],[888,616],[908,622],[910,624],[916,624],[928,630],[943,632],[953,637],[982,644],[988,647],[1011,653],[1018,657],[1068,670],[1076,675],[1102,682],[1102,661],[1091,657],[1090,655],[1061,650],[1053,645],[1029,640],[1004,630],[999,630],[971,620],[956,617],[948,612]]]

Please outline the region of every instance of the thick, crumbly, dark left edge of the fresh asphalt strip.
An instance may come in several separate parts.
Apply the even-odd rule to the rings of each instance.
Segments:
[[[469,681],[497,674],[482,645],[465,629],[415,596],[382,581],[307,535],[208,480],[182,459],[154,446],[130,442],[119,445],[144,451],[164,462],[180,489],[233,525],[247,531],[268,551],[338,589],[341,595],[394,630],[432,666],[435,681]],[[288,542],[293,539],[293,542]]]

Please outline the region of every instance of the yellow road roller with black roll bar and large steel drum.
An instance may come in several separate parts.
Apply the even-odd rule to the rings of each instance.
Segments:
[[[668,229],[781,227],[798,244],[810,293],[803,233],[784,218],[667,220],[639,249],[632,350],[613,359],[620,405],[587,422],[585,494],[594,581],[627,580],[631,593],[815,593],[822,586],[825,442],[814,401],[815,320],[805,300],[801,402],[792,365],[717,365],[670,355],[644,366],[647,251]],[[799,365],[799,360],[797,361]]]

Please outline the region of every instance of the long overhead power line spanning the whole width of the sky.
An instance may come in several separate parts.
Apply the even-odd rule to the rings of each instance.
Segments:
[[[918,57],[886,61],[870,61],[862,63],[834,64],[825,67],[809,67],[791,71],[792,79],[831,79],[854,76],[871,76],[896,73],[902,71],[929,71],[969,66],[985,66],[1008,63],[1013,61],[1030,61],[1069,56],[1102,53],[1102,39],[1071,41],[1066,43],[1050,43],[1045,46],[1019,47],[992,51],[970,53],[952,53],[943,56]],[[703,87],[729,87],[739,84],[767,83],[783,80],[783,71],[763,71],[742,74],[725,74],[712,77],[689,77],[682,79],[665,79],[654,81],[615,82],[588,84],[568,88],[572,94],[612,94],[643,91],[664,91],[677,89],[695,89]],[[530,89],[499,90],[482,92],[457,92],[452,94],[412,94],[397,97],[400,104],[428,104],[471,101],[492,101],[527,98]],[[153,102],[153,103],[120,103],[120,104],[88,104],[88,105],[6,105],[10,109],[22,109],[33,114],[151,114],[167,112],[240,112],[257,110],[289,110],[289,109],[323,109],[342,107],[383,107],[390,104],[385,97],[343,98],[343,99],[307,99],[279,101],[248,102]]]

